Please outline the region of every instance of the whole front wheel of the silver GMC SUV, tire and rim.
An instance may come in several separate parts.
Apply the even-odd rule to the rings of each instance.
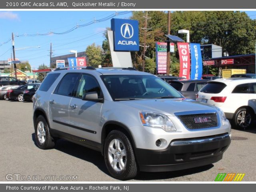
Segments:
[[[114,178],[128,180],[137,174],[132,144],[123,132],[113,130],[108,134],[104,145],[104,159]]]

